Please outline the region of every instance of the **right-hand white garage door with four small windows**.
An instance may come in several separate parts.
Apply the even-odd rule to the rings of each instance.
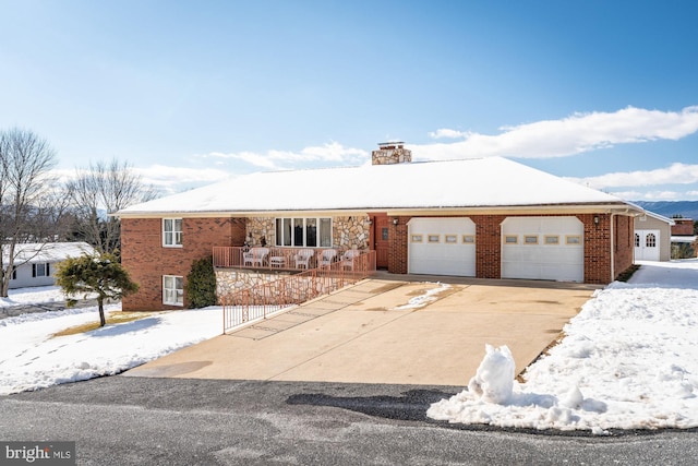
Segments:
[[[583,282],[585,226],[577,217],[508,217],[502,278]]]

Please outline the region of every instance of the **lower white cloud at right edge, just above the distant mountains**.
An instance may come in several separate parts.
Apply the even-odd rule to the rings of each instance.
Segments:
[[[588,178],[568,178],[594,189],[698,183],[698,165],[675,163],[654,170],[618,171]]]

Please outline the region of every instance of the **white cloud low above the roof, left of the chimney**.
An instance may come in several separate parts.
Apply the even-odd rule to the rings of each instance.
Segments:
[[[369,157],[369,152],[360,148],[345,147],[337,142],[332,142],[321,146],[304,147],[300,152],[276,150],[270,150],[266,153],[237,152],[224,154],[213,152],[200,155],[198,157],[237,159],[266,169],[282,169],[286,168],[286,164],[296,165],[312,162],[333,162],[336,164],[354,163]]]

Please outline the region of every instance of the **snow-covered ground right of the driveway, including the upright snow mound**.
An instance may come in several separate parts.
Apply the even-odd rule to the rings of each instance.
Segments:
[[[508,348],[486,347],[468,387],[428,416],[597,434],[698,427],[698,260],[641,264],[585,303],[525,383]]]

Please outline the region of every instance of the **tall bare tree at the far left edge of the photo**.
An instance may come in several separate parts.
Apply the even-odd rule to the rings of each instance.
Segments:
[[[52,207],[45,201],[55,186],[49,176],[55,165],[53,150],[32,131],[16,128],[0,131],[1,297],[8,296],[17,244],[46,241],[46,235],[52,230],[49,226]]]

